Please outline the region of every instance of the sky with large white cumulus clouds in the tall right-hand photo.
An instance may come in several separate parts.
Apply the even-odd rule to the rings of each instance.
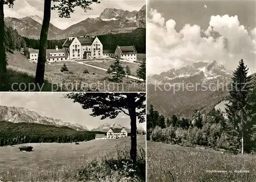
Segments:
[[[147,74],[243,59],[256,71],[255,1],[147,1]]]

